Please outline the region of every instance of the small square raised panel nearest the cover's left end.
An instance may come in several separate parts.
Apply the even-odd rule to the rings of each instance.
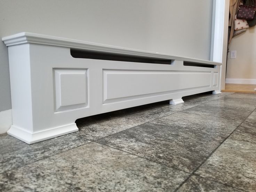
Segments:
[[[87,106],[87,69],[54,69],[55,111]]]

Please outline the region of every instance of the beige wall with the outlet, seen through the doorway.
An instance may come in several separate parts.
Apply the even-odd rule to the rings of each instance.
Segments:
[[[237,50],[237,58],[227,58],[226,79],[256,79],[256,29],[234,37],[229,50]]]

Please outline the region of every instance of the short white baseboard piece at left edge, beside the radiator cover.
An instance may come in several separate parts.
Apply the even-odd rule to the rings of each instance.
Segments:
[[[6,133],[10,126],[13,124],[11,109],[0,111],[0,134]]]

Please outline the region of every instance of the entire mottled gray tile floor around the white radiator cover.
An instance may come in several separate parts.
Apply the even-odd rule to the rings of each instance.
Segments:
[[[256,191],[256,94],[183,99],[82,118],[32,145],[0,135],[0,191]]]

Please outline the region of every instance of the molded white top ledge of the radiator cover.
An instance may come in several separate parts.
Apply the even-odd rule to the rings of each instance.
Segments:
[[[105,53],[133,55],[133,56],[141,56],[146,58],[158,58],[158,59],[177,59],[177,60],[183,60],[188,62],[196,62],[200,64],[221,65],[220,62],[212,62],[212,61],[207,61],[203,59],[181,57],[177,55],[155,53],[151,51],[130,49],[130,48],[124,48],[124,47],[118,47],[118,46],[104,45],[99,43],[54,37],[50,35],[42,35],[42,34],[36,34],[36,33],[27,33],[27,32],[22,32],[22,33],[10,35],[8,37],[3,37],[2,41],[5,43],[7,47],[14,46],[14,45],[21,45],[24,43],[35,43],[35,44],[43,44],[43,45],[70,47],[70,48],[76,48],[76,49],[85,49],[85,50],[96,51],[96,52],[98,51],[101,53],[105,52]]]

